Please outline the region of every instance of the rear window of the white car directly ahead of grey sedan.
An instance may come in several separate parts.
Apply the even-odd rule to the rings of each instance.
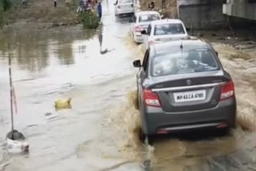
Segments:
[[[154,35],[185,34],[182,24],[161,24],[154,26]]]

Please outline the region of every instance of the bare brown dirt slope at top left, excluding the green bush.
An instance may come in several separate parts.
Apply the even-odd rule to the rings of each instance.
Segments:
[[[78,2],[76,0],[59,0],[54,7],[53,0],[28,0],[28,5],[23,7],[18,4],[8,10],[6,16],[9,23],[21,22],[34,26],[73,26],[78,24],[76,13]]]

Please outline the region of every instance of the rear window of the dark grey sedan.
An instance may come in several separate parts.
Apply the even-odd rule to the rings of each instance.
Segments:
[[[157,56],[152,62],[152,75],[189,74],[218,70],[218,62],[211,50],[190,50]]]

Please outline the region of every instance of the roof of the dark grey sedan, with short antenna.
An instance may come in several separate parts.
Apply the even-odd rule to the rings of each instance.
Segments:
[[[187,38],[180,38],[178,40],[170,41],[170,42],[162,42],[156,43],[152,45],[154,50],[154,54],[166,54],[170,52],[180,51],[181,45],[183,47],[182,50],[196,50],[196,49],[212,49],[210,44],[205,40],[194,38],[194,37],[187,37]]]

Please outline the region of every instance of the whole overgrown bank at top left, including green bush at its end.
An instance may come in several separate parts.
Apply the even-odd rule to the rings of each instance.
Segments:
[[[98,15],[95,12],[77,14],[77,7],[78,0],[58,1],[57,8],[54,8],[53,0],[28,1],[27,6],[22,6],[22,0],[0,0],[0,29],[14,22],[39,29],[79,23],[85,29],[96,29],[99,25]]]

